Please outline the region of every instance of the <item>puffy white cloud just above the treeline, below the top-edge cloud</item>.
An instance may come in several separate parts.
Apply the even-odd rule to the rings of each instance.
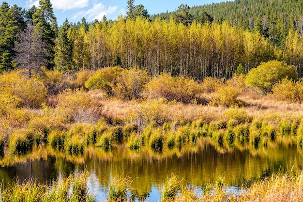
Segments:
[[[103,3],[95,3],[91,9],[88,11],[80,11],[73,18],[77,19],[83,16],[88,16],[89,20],[101,20],[103,16],[114,13],[117,8],[117,6],[109,6],[108,8],[105,8],[105,5]]]

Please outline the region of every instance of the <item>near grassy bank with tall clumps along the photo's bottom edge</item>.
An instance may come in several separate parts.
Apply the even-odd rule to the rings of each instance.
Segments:
[[[273,174],[258,180],[251,186],[242,186],[237,191],[229,189],[223,178],[208,184],[200,192],[197,187],[186,185],[182,179],[172,175],[162,185],[161,201],[164,202],[267,202],[303,200],[303,172],[297,174]],[[107,201],[124,202],[133,200],[132,179],[116,176],[108,182]],[[97,202],[88,186],[86,171],[57,179],[51,184],[27,181],[14,183],[1,193],[3,202]],[[141,199],[144,200],[144,199]]]

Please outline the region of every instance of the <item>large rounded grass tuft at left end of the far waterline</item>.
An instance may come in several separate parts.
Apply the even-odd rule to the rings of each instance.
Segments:
[[[27,152],[33,145],[34,134],[28,129],[18,129],[10,136],[9,151],[11,154]]]

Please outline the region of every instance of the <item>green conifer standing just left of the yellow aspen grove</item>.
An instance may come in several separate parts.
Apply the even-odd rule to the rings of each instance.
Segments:
[[[66,19],[59,31],[55,46],[55,64],[61,71],[74,71],[73,69],[73,42],[68,37],[70,25]]]

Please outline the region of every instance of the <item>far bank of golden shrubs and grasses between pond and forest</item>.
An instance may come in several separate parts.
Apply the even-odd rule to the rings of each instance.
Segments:
[[[23,70],[0,76],[0,155],[40,144],[77,155],[89,146],[109,151],[120,144],[165,153],[201,138],[220,148],[303,142],[302,104],[248,88],[243,75],[198,82],[167,74],[151,78],[136,68],[41,71],[33,78]]]

